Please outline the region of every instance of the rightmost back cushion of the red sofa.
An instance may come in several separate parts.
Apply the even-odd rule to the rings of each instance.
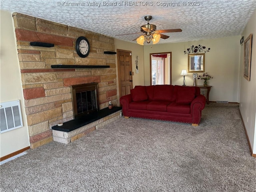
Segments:
[[[179,88],[176,93],[176,103],[190,104],[195,98],[194,87]]]

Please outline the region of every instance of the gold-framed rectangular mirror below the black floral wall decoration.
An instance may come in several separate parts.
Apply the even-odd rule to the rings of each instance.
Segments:
[[[204,53],[188,55],[188,72],[204,72]]]

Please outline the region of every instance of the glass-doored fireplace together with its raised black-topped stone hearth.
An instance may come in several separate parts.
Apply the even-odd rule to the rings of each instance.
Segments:
[[[99,107],[98,83],[73,85],[74,119],[52,126],[53,140],[68,144],[122,116],[122,107]]]

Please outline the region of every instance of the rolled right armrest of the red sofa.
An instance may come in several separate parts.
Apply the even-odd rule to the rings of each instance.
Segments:
[[[203,95],[198,95],[190,104],[190,112],[192,114],[193,124],[199,124],[201,120],[202,110],[205,107],[206,98]]]

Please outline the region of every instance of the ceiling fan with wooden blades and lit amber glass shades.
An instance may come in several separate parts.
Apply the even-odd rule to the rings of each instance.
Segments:
[[[152,16],[145,16],[144,19],[148,22],[146,25],[142,25],[140,27],[140,33],[143,35],[134,39],[133,41],[137,41],[138,44],[143,45],[144,41],[153,44],[156,44],[160,41],[160,38],[167,39],[169,36],[164,35],[162,33],[171,33],[171,32],[182,32],[181,29],[164,29],[164,30],[156,30],[156,25],[150,24],[149,21],[152,19]],[[139,33],[130,33],[130,34],[139,34]],[[130,35],[130,34],[120,34],[120,35]]]

